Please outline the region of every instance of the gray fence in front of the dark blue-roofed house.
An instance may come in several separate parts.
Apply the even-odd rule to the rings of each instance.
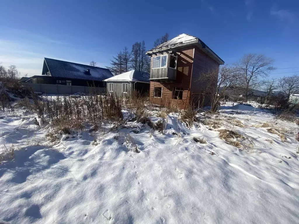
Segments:
[[[35,84],[24,83],[27,88],[32,88],[34,92],[46,94],[74,94],[78,92],[89,93],[91,90],[105,92],[106,88],[76,86],[76,85],[58,85],[58,84]]]

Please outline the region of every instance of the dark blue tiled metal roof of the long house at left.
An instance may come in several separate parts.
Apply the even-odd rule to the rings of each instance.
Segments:
[[[103,81],[113,76],[107,68],[65,62],[51,58],[45,58],[45,65],[48,67],[51,76],[57,78]],[[88,69],[89,72],[87,72]]]

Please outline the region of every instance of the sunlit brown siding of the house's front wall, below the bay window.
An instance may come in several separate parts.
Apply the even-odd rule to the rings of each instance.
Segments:
[[[189,46],[188,48],[177,51],[177,53],[180,54],[178,55],[175,82],[150,82],[150,102],[161,106],[177,104],[181,109],[184,109],[190,104],[190,81],[193,65],[193,49],[193,46]],[[155,87],[162,87],[161,98],[154,97]],[[183,99],[173,99],[174,88],[184,89]]]

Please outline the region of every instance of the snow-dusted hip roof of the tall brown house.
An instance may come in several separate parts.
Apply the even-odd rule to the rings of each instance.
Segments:
[[[147,51],[147,55],[152,55],[153,53],[158,53],[159,51],[175,49],[187,45],[197,45],[203,52],[207,53],[211,58],[215,59],[220,65],[224,65],[224,61],[201,39],[185,33],[180,34],[179,36],[161,45],[158,45],[157,47],[152,48],[151,50]]]

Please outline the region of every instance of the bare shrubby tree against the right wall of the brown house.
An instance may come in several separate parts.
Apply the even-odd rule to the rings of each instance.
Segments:
[[[225,93],[237,83],[237,72],[234,67],[223,65],[203,73],[201,82],[206,82],[205,93],[211,99],[211,111],[215,112]]]

